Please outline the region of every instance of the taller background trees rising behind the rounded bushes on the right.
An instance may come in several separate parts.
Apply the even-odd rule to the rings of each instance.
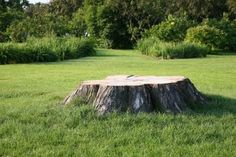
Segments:
[[[54,34],[90,36],[113,48],[130,48],[169,15],[200,23],[224,13],[235,19],[235,0],[0,0],[0,41]]]

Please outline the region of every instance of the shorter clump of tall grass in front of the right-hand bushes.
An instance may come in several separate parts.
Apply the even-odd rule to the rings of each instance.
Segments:
[[[207,47],[200,44],[162,42],[154,37],[139,41],[137,48],[145,55],[170,59],[206,57],[209,52]]]

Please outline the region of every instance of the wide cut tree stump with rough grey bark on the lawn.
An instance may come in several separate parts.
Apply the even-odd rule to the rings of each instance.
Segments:
[[[105,80],[83,82],[67,96],[68,105],[79,99],[93,104],[99,113],[167,112],[181,113],[204,103],[203,95],[182,76],[109,76]]]

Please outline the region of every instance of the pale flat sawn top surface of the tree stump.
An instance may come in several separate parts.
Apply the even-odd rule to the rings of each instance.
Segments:
[[[145,84],[170,84],[184,81],[184,76],[133,76],[115,75],[108,76],[104,80],[84,81],[85,85],[106,85],[106,86],[141,86]]]

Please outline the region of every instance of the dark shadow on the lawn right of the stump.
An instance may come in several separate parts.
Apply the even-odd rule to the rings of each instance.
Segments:
[[[219,95],[207,95],[207,103],[194,110],[196,114],[222,116],[236,115],[236,99]]]

